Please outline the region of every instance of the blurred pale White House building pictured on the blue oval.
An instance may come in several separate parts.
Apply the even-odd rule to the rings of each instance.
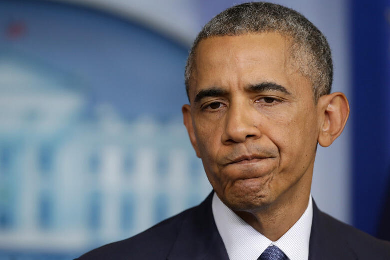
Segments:
[[[1,56],[1,55],[0,55]],[[0,244],[82,249],[135,234],[211,190],[180,120],[85,118],[85,87],[0,59]]]

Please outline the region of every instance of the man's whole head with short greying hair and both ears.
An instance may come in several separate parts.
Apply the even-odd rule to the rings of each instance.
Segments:
[[[258,211],[308,199],[317,143],[329,146],[349,113],[331,81],[325,37],[293,10],[242,4],[204,27],[188,57],[182,111],[226,205]]]

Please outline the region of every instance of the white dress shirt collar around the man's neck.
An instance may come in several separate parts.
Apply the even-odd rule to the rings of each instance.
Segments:
[[[274,242],[242,220],[223,204],[215,193],[212,198],[212,213],[230,260],[257,260],[270,245],[279,247],[289,260],[308,259],[313,220],[311,195],[303,215],[279,240]]]

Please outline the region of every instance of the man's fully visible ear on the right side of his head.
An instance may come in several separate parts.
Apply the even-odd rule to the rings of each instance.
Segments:
[[[321,96],[317,103],[320,118],[318,143],[327,147],[341,134],[349,116],[349,103],[341,92]]]

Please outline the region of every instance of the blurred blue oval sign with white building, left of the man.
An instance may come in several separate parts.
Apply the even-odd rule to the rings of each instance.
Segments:
[[[0,26],[0,258],[75,257],[210,192],[181,122],[188,46],[50,1],[0,1]]]

